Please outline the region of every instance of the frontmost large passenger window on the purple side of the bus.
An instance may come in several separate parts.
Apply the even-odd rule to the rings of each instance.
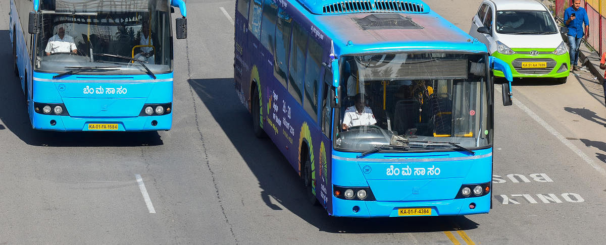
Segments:
[[[318,81],[321,80],[320,68],[322,47],[311,36],[307,42],[307,62],[305,62],[305,111],[318,122]]]

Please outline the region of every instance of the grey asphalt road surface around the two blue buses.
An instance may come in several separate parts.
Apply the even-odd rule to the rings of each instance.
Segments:
[[[466,32],[479,5],[427,2]],[[604,242],[606,109],[589,73],[516,80],[514,105],[497,103],[490,214],[331,218],[307,204],[276,146],[253,136],[233,88],[234,2],[187,7],[167,132],[31,129],[0,19],[0,244]]]

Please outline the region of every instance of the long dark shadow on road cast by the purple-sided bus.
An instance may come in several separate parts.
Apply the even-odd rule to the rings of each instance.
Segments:
[[[271,211],[277,211],[270,216],[287,209],[319,230],[331,233],[438,232],[478,227],[465,217],[329,217],[324,208],[308,203],[299,175],[273,142],[255,137],[250,113],[240,103],[233,78],[188,79],[188,83],[255,175],[262,189],[259,200]]]

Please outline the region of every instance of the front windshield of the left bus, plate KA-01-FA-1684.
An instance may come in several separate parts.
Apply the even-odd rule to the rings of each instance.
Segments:
[[[154,7],[145,12],[81,15],[43,12],[41,31],[36,38],[35,70],[63,73],[79,67],[111,65],[115,68],[81,73],[146,73],[139,62],[96,55],[110,54],[141,60],[153,73],[168,73],[172,71],[169,18],[169,12]]]

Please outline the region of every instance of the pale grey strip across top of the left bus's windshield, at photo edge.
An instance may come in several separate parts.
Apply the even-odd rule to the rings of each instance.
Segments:
[[[147,12],[149,0],[55,0],[59,12]]]

